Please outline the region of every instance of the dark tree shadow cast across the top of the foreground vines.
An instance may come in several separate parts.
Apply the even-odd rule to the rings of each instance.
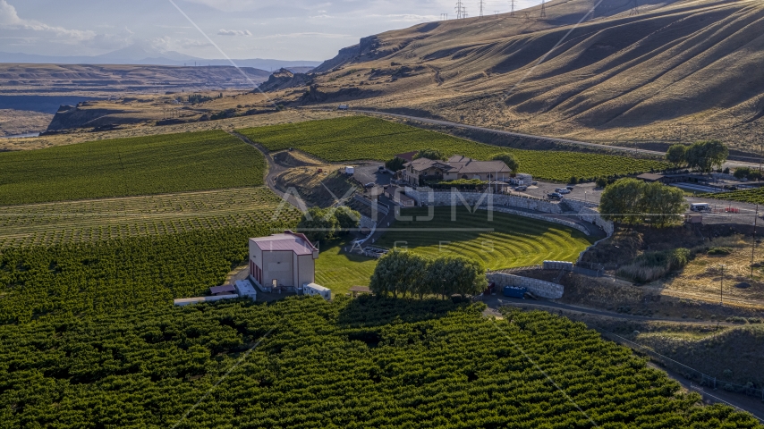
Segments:
[[[391,324],[396,320],[415,323],[441,318],[469,305],[467,301],[457,303],[451,299],[395,299],[363,295],[352,299],[340,311],[337,324],[344,328],[360,328]]]

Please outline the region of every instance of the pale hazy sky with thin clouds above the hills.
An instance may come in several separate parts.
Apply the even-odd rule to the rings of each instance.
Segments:
[[[454,17],[455,0],[174,0],[232,58],[325,60],[364,36]],[[540,0],[520,0],[525,6]],[[480,0],[466,0],[477,16]],[[509,11],[487,0],[485,13]],[[100,55],[139,45],[221,58],[170,0],[0,0],[0,51]]]

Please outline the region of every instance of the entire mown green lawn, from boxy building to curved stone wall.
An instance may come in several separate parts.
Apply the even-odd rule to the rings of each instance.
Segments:
[[[411,208],[403,216],[427,216],[428,208]],[[537,221],[513,214],[494,213],[488,222],[488,211],[471,214],[457,208],[456,221],[451,220],[451,207],[435,207],[429,222],[396,221],[375,246],[407,247],[431,257],[455,253],[479,260],[488,269],[537,265],[545,260],[575,261],[579,253],[592,244],[581,231]],[[341,252],[344,242],[335,241],[321,249],[316,264],[316,280],[335,294],[346,293],[351,286],[366,286],[377,265],[376,259]]]

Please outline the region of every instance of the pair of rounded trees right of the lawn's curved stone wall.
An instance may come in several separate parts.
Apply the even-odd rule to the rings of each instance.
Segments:
[[[621,179],[607,186],[599,201],[599,212],[620,223],[649,223],[658,228],[680,221],[687,210],[681,189],[662,183]]]

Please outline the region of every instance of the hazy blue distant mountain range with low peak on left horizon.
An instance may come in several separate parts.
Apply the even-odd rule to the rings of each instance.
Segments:
[[[0,52],[0,63],[33,64],[125,64],[125,65],[231,65],[228,60],[197,58],[174,51],[159,51],[147,46],[132,45],[95,56],[49,56]],[[281,68],[313,68],[319,61],[283,61],[274,59],[233,60],[239,67],[273,71]]]

